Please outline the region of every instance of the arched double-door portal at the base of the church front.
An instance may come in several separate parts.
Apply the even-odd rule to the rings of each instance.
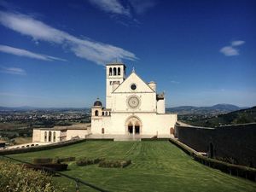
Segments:
[[[125,121],[125,132],[128,135],[139,135],[142,133],[142,121],[136,117],[131,116]]]

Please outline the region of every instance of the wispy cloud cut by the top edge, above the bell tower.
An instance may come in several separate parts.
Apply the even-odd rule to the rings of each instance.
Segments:
[[[126,9],[118,0],[89,0],[93,5],[107,13],[130,16],[130,10]]]

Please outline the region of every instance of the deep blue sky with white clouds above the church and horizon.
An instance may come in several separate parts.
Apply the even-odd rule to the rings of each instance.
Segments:
[[[256,105],[256,1],[0,0],[0,106],[105,102],[107,62],[166,106]]]

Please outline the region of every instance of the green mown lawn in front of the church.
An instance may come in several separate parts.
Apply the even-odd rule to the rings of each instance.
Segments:
[[[70,170],[64,172],[110,191],[256,191],[256,183],[202,166],[168,141],[91,141],[10,156],[26,161],[67,156],[131,160],[131,165],[123,169],[76,166],[71,162]],[[74,183],[67,178],[55,177],[55,181],[68,191],[75,191]]]

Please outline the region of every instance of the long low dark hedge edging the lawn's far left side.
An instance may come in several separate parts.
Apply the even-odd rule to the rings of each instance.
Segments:
[[[0,151],[0,155],[4,154],[21,154],[21,153],[28,153],[28,152],[34,152],[34,151],[42,151],[42,150],[48,150],[51,148],[61,148],[68,145],[73,145],[76,143],[82,143],[85,142],[86,139],[78,139],[78,140],[69,140],[67,142],[61,142],[61,143],[53,143],[49,145],[41,145],[41,146],[35,146],[32,148],[12,148],[12,149],[4,149]]]

